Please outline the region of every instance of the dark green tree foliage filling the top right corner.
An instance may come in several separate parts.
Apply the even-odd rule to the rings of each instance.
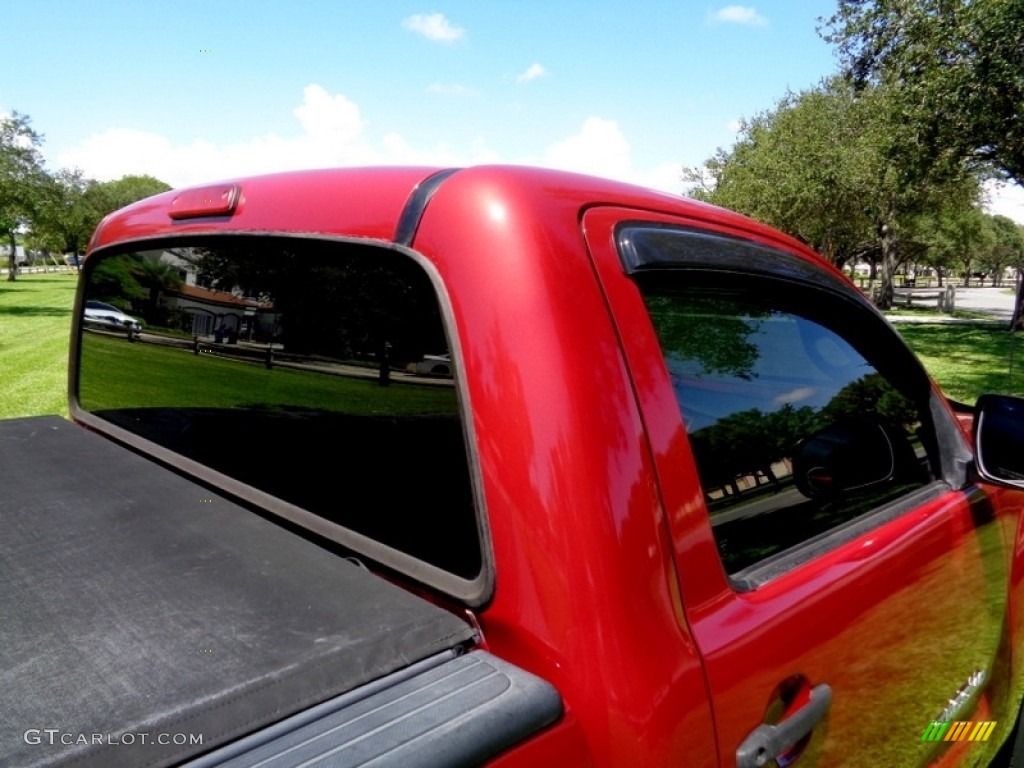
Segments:
[[[1024,182],[1024,4],[839,0],[822,36],[859,84],[886,83],[931,158],[976,161]],[[1024,315],[1024,281],[1015,321]]]

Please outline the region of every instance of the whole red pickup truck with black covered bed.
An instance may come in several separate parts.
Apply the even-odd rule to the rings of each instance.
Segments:
[[[97,228],[70,386],[85,430],[0,428],[5,765],[1015,746],[1024,401],[955,413],[739,215],[515,167],[169,191]]]

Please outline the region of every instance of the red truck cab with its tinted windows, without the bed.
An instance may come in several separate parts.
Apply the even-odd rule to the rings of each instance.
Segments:
[[[495,766],[985,765],[1012,737],[1020,401],[976,438],[786,236],[554,171],[276,174],[108,217],[76,316],[75,421],[554,692]]]

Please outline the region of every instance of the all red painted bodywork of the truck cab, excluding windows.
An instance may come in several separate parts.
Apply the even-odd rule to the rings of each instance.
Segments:
[[[234,215],[181,221],[167,215],[177,195],[167,193],[109,217],[92,248],[226,231],[390,243],[432,172],[243,179]],[[1024,600],[1024,495],[949,493],[762,588],[735,591],[657,339],[615,254],[614,226],[636,218],[743,237],[836,273],[796,241],[727,211],[522,168],[452,175],[411,245],[435,266],[451,304],[472,414],[496,572],[477,612],[484,642],[552,682],[566,706],[559,724],[494,764],[732,765],[773,688],[799,674],[831,684],[837,700],[824,757],[800,765],[841,765],[844,745],[865,732],[885,741],[869,730],[880,717],[924,728],[935,696],[955,692],[944,678],[935,691],[908,692],[920,681],[899,681],[901,658],[954,653],[1010,627],[1014,639],[997,638],[994,662],[1004,679],[984,701],[1007,722],[1022,688],[1019,667],[1007,681],[1024,616],[1002,620],[1008,598]],[[955,609],[943,609],[948,600]],[[879,677],[865,684],[865,675]]]

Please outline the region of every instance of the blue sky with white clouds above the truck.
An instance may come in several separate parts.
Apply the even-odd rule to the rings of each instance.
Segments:
[[[498,162],[680,193],[836,69],[835,5],[35,0],[4,12],[0,111],[98,179]]]

